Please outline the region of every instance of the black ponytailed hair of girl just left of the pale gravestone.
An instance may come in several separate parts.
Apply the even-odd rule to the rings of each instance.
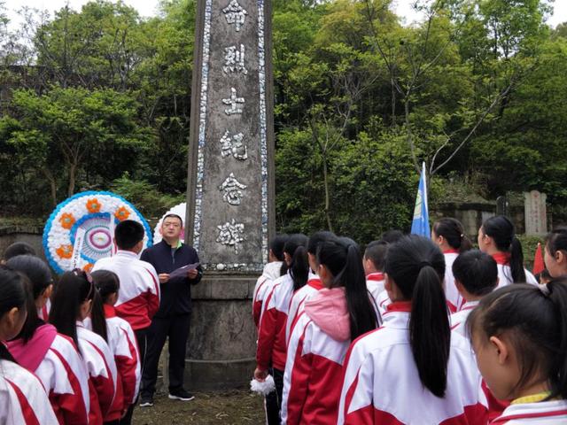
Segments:
[[[498,251],[509,252],[512,281],[515,283],[526,282],[522,243],[515,235],[512,222],[503,215],[496,215],[485,220],[482,225],[482,231],[486,236],[493,238]]]

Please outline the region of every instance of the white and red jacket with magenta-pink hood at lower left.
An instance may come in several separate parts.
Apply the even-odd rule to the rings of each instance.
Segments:
[[[53,412],[61,425],[82,425],[89,417],[89,374],[73,340],[57,333],[50,324],[35,330],[34,336],[7,343],[19,365],[43,383]]]

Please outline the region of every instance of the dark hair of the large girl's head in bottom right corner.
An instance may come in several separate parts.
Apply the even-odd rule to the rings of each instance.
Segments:
[[[548,399],[567,398],[567,279],[505,286],[482,298],[467,319],[470,335],[506,334],[520,365],[514,390],[543,378]],[[538,376],[539,374],[543,376]]]

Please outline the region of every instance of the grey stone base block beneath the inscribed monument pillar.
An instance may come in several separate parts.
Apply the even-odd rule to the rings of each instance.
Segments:
[[[258,274],[214,274],[191,288],[193,310],[185,363],[190,390],[248,386],[255,367],[252,293]]]

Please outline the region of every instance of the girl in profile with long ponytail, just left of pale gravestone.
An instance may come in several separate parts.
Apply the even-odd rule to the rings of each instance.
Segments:
[[[511,283],[538,284],[533,274],[524,269],[522,243],[507,217],[496,215],[485,220],[478,229],[478,248],[496,260],[499,288]]]

